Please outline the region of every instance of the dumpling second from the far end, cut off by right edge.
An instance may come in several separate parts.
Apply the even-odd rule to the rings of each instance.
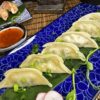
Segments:
[[[91,37],[100,37],[100,22],[96,20],[76,21],[69,31],[84,31]]]

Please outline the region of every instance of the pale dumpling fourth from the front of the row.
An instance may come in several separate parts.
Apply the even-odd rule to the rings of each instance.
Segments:
[[[56,39],[57,42],[74,43],[78,47],[98,48],[97,43],[90,38],[89,34],[81,32],[66,32]]]

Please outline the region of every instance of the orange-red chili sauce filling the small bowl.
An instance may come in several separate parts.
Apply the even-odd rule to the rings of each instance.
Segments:
[[[0,48],[7,48],[17,43],[24,35],[19,27],[9,27],[0,31]]]

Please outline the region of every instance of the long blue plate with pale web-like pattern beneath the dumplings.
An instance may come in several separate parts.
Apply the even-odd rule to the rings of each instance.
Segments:
[[[34,44],[39,44],[39,51],[42,50],[42,45],[54,41],[64,31],[68,30],[72,23],[83,15],[100,10],[100,6],[94,6],[89,4],[80,3],[70,11],[66,12],[60,18],[52,22],[47,27],[39,31],[34,39],[31,38],[20,50],[15,50],[6,57],[0,58],[0,80],[3,78],[3,73],[11,68],[18,67],[21,62],[30,54]],[[90,61],[94,65],[94,70],[90,73],[90,78],[95,85],[100,85],[100,50],[90,58]],[[77,100],[92,100],[97,93],[90,84],[87,82],[85,67],[81,67],[77,70],[76,74],[76,88],[77,88]],[[54,88],[54,90],[61,93],[63,96],[67,95],[71,90],[71,77],[67,78],[64,82]],[[0,91],[0,93],[3,90]]]

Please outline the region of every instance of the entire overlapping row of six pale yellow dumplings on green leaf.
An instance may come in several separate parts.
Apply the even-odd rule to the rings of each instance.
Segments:
[[[40,54],[29,55],[19,69],[8,70],[5,73],[4,80],[0,82],[0,88],[13,87],[14,84],[18,84],[20,87],[34,85],[52,87],[52,84],[43,76],[42,72],[71,74],[71,71],[64,65],[64,59],[85,61],[86,58],[79,48],[99,47],[92,39],[92,37],[100,37],[98,31],[99,18],[100,13],[91,13],[80,18],[54,42],[45,44]]]

